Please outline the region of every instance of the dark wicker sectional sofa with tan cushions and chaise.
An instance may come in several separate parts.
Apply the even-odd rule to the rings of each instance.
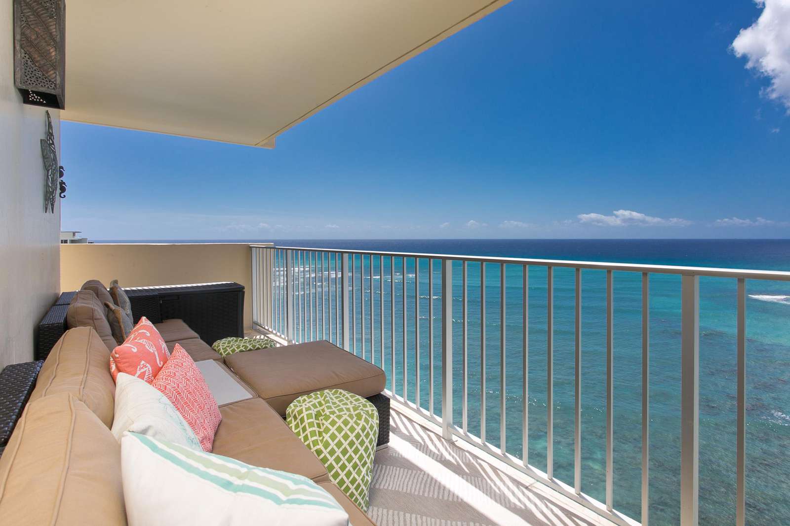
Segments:
[[[40,333],[56,331],[58,324],[62,327],[51,349],[40,345],[37,354],[43,358],[43,365],[39,361],[16,366],[14,375],[27,375],[27,379],[0,385],[0,391],[6,390],[0,398],[9,398],[7,390],[20,391],[14,394],[18,408],[25,405],[24,398],[29,396],[15,427],[13,422],[7,422],[14,405],[9,405],[11,409],[5,415],[0,411],[0,420],[6,416],[5,427],[0,422],[0,431],[13,429],[0,457],[0,517],[9,520],[8,524],[126,524],[120,446],[110,431],[115,383],[108,360],[115,342],[107,338],[108,327],[102,323],[106,319],[99,315],[103,310],[96,293],[90,290],[103,288],[96,283],[88,282],[76,293],[64,293],[61,301],[65,296],[68,304],[58,301],[53,307],[57,315],[51,309],[43,320]],[[194,330],[182,319],[164,318],[156,308],[164,298],[171,302],[167,308],[177,312],[180,298],[174,300],[173,296],[187,296],[185,304],[189,307],[183,311],[190,315],[190,309],[201,304],[201,295],[228,292],[235,299],[222,298],[226,311],[206,316],[211,323],[195,326]],[[141,294],[130,291],[130,299],[135,322],[141,315],[150,315],[157,320],[155,325],[170,349],[180,343],[198,366],[213,360],[215,364],[210,364],[209,369],[224,371],[226,384],[235,382],[235,391],[238,393],[239,387],[243,390],[243,399],[220,401],[222,422],[216,431],[213,453],[307,476],[337,499],[348,512],[351,524],[374,524],[329,480],[318,457],[292,433],[283,416],[288,404],[302,394],[328,388],[348,390],[367,397],[378,409],[378,446],[382,446],[389,442],[389,398],[382,394],[384,371],[328,341],[223,358],[201,336],[211,334],[216,339],[240,335],[238,316],[242,312],[243,287],[235,283],[190,285],[186,293],[173,287],[147,288]],[[216,300],[209,297],[202,306]],[[229,309],[235,315],[228,312],[231,304],[238,307]],[[193,322],[194,319],[193,316]],[[222,334],[223,324],[232,327],[230,334]],[[40,341],[45,338],[51,335],[40,334]],[[22,392],[21,386],[26,384],[35,386],[32,394]]]

